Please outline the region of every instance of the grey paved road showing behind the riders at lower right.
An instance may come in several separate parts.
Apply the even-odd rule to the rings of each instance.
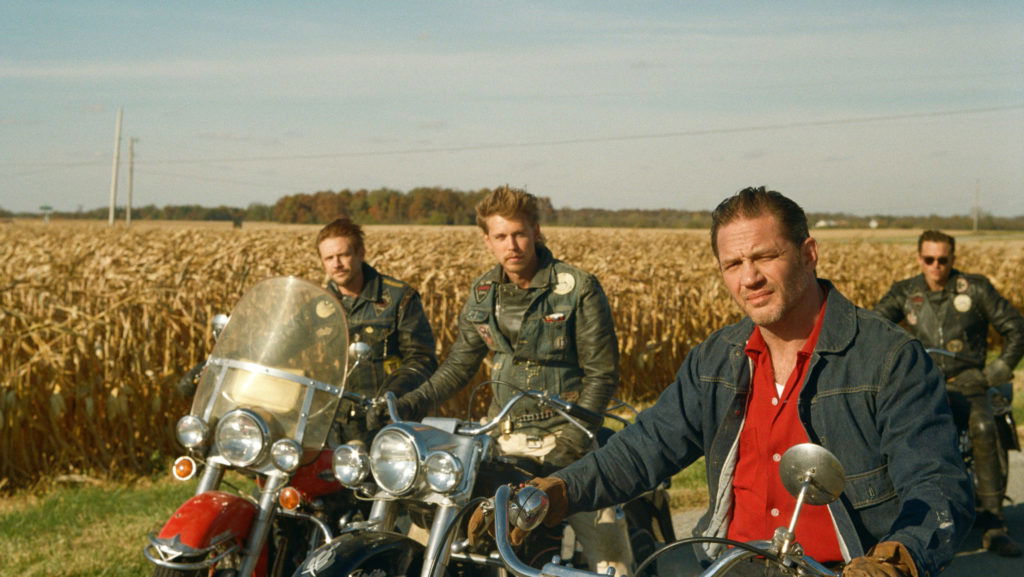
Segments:
[[[1024,542],[1024,453],[1010,453],[1010,486],[1007,495],[1013,504],[1004,508],[1010,534],[1017,542]],[[673,516],[676,535],[688,536],[702,510],[684,510]],[[671,554],[671,553],[670,553]],[[671,560],[667,560],[671,563]],[[666,564],[668,565],[668,564]],[[662,565],[660,567],[666,567]],[[667,575],[663,570],[662,575]],[[961,546],[952,564],[942,577],[1021,577],[1024,576],[1024,558],[1007,559],[981,548],[981,532],[972,530]]]

